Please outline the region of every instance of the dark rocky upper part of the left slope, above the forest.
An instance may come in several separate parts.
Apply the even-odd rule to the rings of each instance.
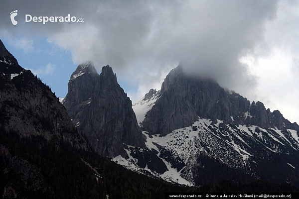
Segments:
[[[86,140],[50,88],[20,67],[1,41],[0,53],[0,132],[40,135],[57,142],[63,139],[87,149]]]

